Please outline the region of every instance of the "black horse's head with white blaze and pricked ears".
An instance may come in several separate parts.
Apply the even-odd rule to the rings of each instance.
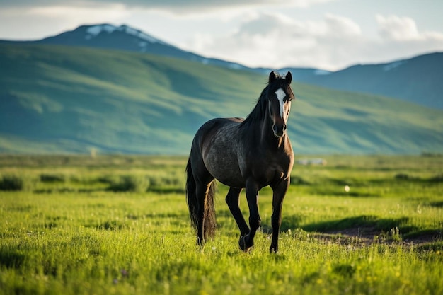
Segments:
[[[272,131],[275,137],[282,137],[287,130],[287,119],[291,110],[291,100],[294,93],[291,89],[292,74],[287,72],[286,76],[278,76],[274,71],[269,74],[269,86],[267,100]]]

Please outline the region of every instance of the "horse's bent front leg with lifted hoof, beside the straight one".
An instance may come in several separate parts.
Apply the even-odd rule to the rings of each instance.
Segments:
[[[254,236],[260,227],[260,213],[258,212],[258,185],[253,180],[246,181],[246,199],[249,207],[249,226],[251,230],[240,238],[238,245],[241,250],[248,252],[254,245]]]

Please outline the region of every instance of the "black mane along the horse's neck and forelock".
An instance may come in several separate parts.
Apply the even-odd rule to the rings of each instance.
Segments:
[[[262,93],[258,97],[257,104],[249,113],[248,117],[241,122],[241,126],[248,126],[253,124],[254,122],[261,122],[263,120],[263,116],[266,113],[267,108],[267,97],[269,96],[269,93],[274,93],[277,91],[278,88],[284,88],[285,92],[288,94],[292,94],[292,90],[289,87],[289,84],[286,83],[286,80],[284,79],[284,76],[276,76],[275,81],[272,81],[270,83],[267,82],[267,86],[263,89]]]

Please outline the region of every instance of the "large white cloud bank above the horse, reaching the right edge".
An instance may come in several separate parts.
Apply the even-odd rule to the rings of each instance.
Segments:
[[[225,35],[196,35],[190,50],[248,66],[319,67],[338,70],[358,63],[390,62],[443,50],[443,34],[422,32],[412,18],[375,16],[379,35],[367,35],[351,18],[326,13],[297,21],[281,13],[255,13]]]

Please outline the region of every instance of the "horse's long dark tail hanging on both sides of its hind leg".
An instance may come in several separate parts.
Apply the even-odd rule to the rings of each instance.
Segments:
[[[192,166],[189,157],[188,165],[186,165],[186,201],[188,202],[192,229],[198,232],[199,226],[203,224],[203,238],[205,239],[213,238],[217,228],[214,207],[215,185],[216,182],[214,180],[209,186],[205,200],[200,200],[198,198],[196,194],[197,184],[195,183],[195,178],[192,174]],[[203,214],[199,214],[201,204],[203,205]]]

